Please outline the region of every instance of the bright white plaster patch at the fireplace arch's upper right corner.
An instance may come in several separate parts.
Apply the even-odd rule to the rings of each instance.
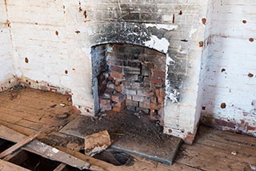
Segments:
[[[160,39],[157,36],[152,35],[149,41],[144,42],[144,45],[167,54],[170,42],[168,42],[166,38]]]

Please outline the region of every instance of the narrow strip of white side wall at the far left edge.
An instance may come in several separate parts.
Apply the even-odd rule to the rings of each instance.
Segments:
[[[14,85],[14,60],[10,27],[7,26],[6,4],[0,0],[0,91]]]

